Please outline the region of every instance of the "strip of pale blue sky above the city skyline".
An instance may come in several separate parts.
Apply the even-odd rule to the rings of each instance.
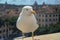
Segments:
[[[42,4],[45,2],[46,4],[60,4],[60,0],[0,0],[0,4],[4,4],[7,2],[8,4],[15,4],[15,5],[32,5],[34,2],[38,4]]]

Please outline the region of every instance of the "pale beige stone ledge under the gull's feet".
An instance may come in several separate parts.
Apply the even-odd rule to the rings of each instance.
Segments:
[[[34,37],[35,40],[60,40],[60,33],[39,35]],[[17,37],[14,40],[22,40],[21,37]],[[31,37],[24,38],[24,40],[32,40]]]

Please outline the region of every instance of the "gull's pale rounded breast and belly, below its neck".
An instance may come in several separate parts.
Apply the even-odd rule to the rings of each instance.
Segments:
[[[32,32],[38,27],[35,17],[20,17],[18,18],[17,28],[24,32]]]

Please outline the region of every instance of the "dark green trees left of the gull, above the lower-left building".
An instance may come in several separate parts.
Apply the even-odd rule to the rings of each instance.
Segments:
[[[17,21],[18,16],[13,16],[11,18],[5,18],[5,19],[0,19],[0,23],[6,23],[7,25],[16,25],[16,21]]]

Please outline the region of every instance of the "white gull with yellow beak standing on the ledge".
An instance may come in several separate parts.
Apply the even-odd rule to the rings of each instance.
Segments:
[[[38,28],[37,20],[34,16],[35,11],[31,6],[24,6],[17,20],[17,28],[22,31],[22,34],[32,32],[32,40],[33,32]]]

